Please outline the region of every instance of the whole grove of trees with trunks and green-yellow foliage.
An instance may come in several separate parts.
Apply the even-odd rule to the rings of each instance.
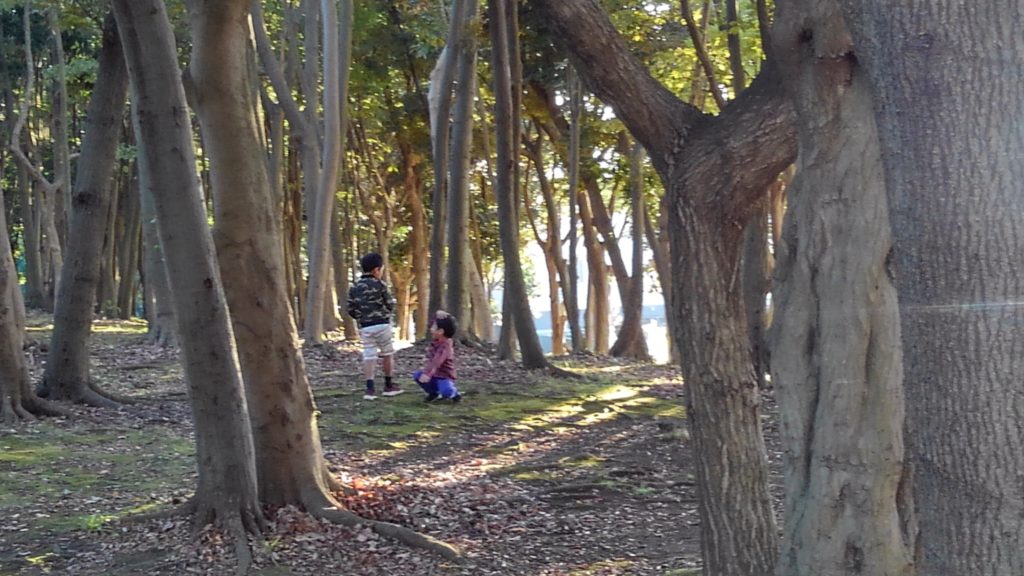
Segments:
[[[1019,4],[0,0],[0,416],[119,406],[143,316],[243,566],[284,505],[457,560],[325,461],[302,351],[377,251],[400,338],[558,377],[659,295],[706,575],[1024,574]]]

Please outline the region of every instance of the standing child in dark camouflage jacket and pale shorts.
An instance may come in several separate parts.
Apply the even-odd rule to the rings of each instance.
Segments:
[[[381,360],[384,372],[384,396],[401,394],[398,384],[391,381],[394,370],[394,335],[391,331],[391,311],[394,301],[381,280],[384,273],[384,258],[370,252],[359,258],[362,276],[348,290],[348,316],[359,324],[359,339],[362,340],[362,374],[367,378],[367,393],[364,400],[377,400],[374,372],[377,359]]]

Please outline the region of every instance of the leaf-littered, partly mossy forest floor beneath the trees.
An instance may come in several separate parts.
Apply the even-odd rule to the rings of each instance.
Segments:
[[[30,337],[46,341],[47,322],[33,318]],[[0,576],[234,573],[232,547],[216,531],[197,534],[185,519],[126,520],[180,503],[196,481],[176,355],[141,343],[142,330],[137,322],[94,328],[94,378],[135,404],[74,407],[74,418],[0,429]],[[398,353],[401,374],[422,349]],[[251,574],[698,573],[676,369],[556,359],[586,376],[567,380],[464,346],[458,354],[459,405],[424,404],[412,381],[401,396],[362,401],[350,342],[308,348],[305,358],[325,455],[357,489],[346,504],[453,543],[465,561],[286,508],[267,511],[271,528],[252,543]]]

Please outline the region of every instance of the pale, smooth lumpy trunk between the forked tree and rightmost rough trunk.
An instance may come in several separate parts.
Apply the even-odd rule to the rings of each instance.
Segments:
[[[892,235],[867,78],[837,2],[780,1],[776,22],[800,146],[773,292],[785,447],[776,574],[908,575]]]

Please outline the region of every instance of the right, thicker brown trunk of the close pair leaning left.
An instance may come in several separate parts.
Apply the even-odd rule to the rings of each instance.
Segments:
[[[328,474],[288,303],[256,93],[247,78],[248,6],[246,0],[189,5],[191,72],[211,157],[214,241],[246,382],[260,499],[299,504],[325,493]]]

